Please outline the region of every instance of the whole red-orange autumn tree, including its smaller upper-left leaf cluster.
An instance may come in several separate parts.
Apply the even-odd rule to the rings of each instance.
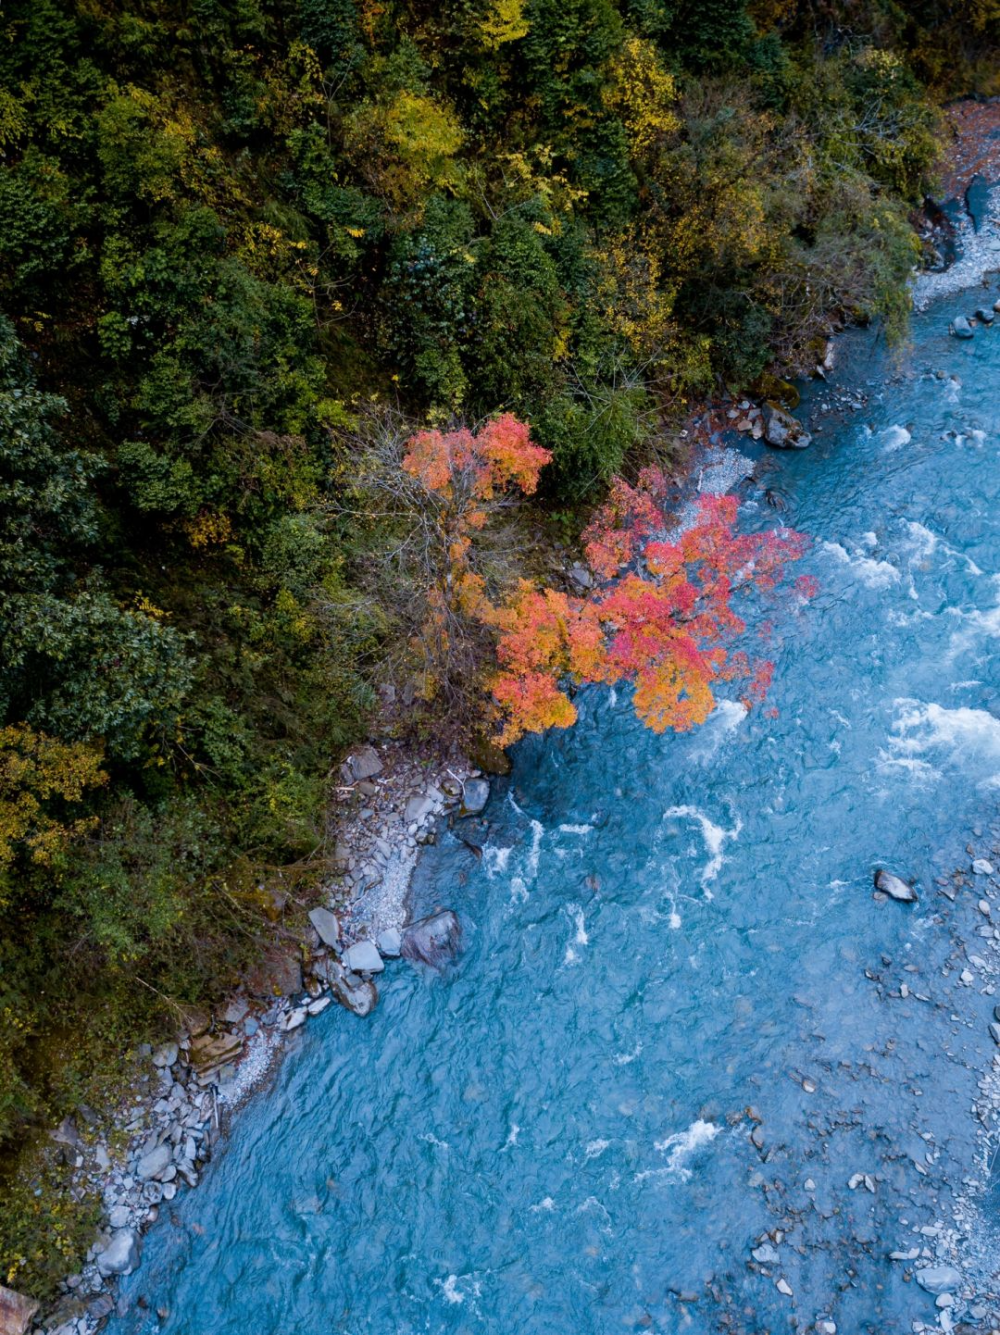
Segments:
[[[483,553],[495,554],[489,538],[501,511],[535,491],[549,458],[511,414],[478,433],[419,431],[399,442],[395,471],[383,451],[383,486],[417,519],[397,554],[411,570],[418,558],[405,587],[410,610],[419,609],[411,645],[425,697],[445,690],[457,702],[479,692],[501,746],[570,726],[571,690],[586,682],[630,684],[637,714],[656,732],[704,722],[721,682],[741,682],[748,706],[761,700],[773,665],[738,647],[746,626],[734,602],[774,590],[805,539],[740,533],[733,497],[702,497],[677,522],[664,474],[645,469],[634,486],[614,481],[583,534],[598,581],[590,593],[511,583],[515,546],[493,570]],[[812,591],[800,581],[802,597]]]

